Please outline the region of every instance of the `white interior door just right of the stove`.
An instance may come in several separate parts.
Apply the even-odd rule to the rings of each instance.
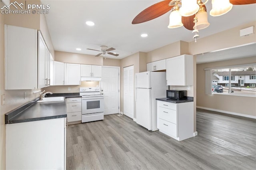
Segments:
[[[119,67],[102,67],[101,89],[104,94],[104,115],[119,111]]]

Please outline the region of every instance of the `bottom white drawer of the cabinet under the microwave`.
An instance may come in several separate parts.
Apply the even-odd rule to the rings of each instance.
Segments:
[[[165,121],[163,119],[158,118],[158,125],[157,127],[159,130],[169,136],[177,136],[177,126],[174,123],[170,123],[168,121]]]

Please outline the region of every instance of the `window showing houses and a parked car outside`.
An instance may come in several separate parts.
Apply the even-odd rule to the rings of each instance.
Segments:
[[[256,96],[256,66],[212,69],[212,92]]]

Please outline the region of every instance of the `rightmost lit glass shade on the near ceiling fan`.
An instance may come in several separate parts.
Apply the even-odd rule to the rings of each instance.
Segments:
[[[212,0],[212,10],[210,10],[211,16],[221,16],[226,14],[232,9],[233,4],[230,4],[229,0]]]

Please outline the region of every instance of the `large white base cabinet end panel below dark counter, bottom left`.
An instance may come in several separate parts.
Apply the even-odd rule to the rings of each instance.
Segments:
[[[6,125],[6,170],[66,169],[66,118]]]

